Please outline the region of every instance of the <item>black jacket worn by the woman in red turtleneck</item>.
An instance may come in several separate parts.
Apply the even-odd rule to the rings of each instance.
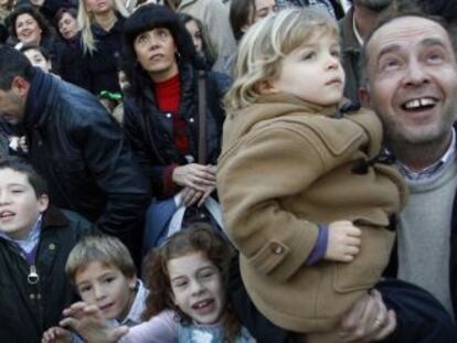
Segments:
[[[198,76],[190,65],[180,66],[181,96],[178,115],[185,119],[190,153],[196,161],[198,146]],[[150,83],[150,82],[149,82]],[[230,87],[225,74],[208,73],[206,76],[206,162],[216,164],[221,152],[224,112],[222,97]],[[189,161],[180,154],[173,140],[172,115],[157,108],[152,87],[142,89],[140,96],[127,96],[124,103],[124,129],[135,158],[149,178],[153,194],[159,197],[173,195],[163,185],[164,169],[183,165]]]

